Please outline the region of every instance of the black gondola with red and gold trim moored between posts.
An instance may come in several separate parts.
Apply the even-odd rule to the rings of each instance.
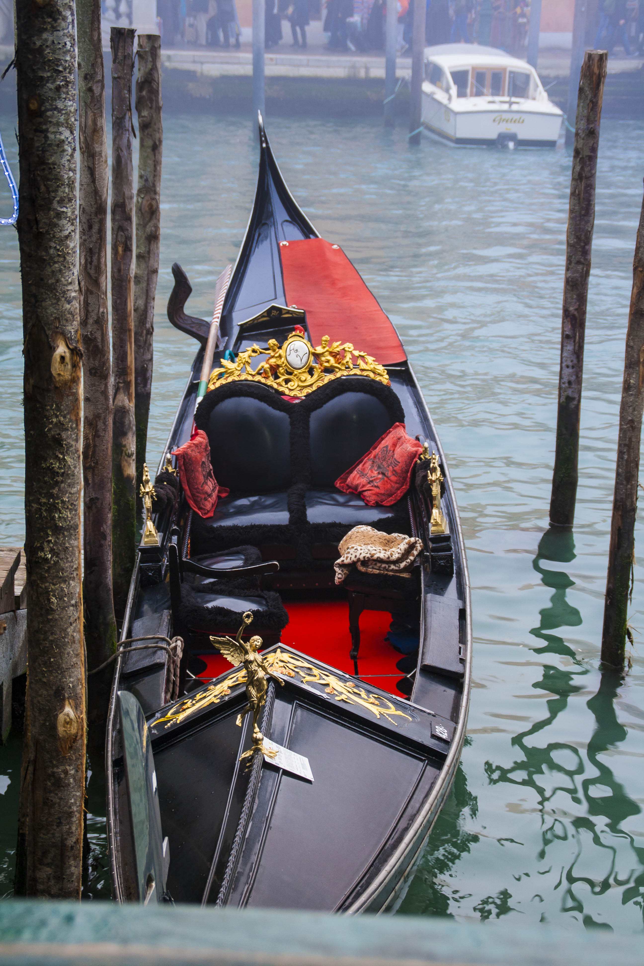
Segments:
[[[191,289],[173,267],[168,316],[201,348],[166,448],[190,440],[194,419],[230,495],[204,519],[171,464],[159,464],[158,540],[142,541],[122,640],[181,636],[184,648],[177,668],[167,644],[116,661],[113,895],[377,912],[403,894],[462,752],[471,618],[461,524],[396,330],[297,208],[261,118],[260,142],[255,204],[196,413],[210,327],[184,313]],[[389,505],[341,492],[342,473],[397,423],[417,440],[406,492]],[[422,549],[404,576],[349,564],[338,586],[338,546],[354,526]],[[228,639],[223,654],[211,636]],[[242,649],[251,682],[224,656],[237,663]],[[253,680],[259,739],[250,714],[238,721]],[[288,752],[271,758],[274,746]]]

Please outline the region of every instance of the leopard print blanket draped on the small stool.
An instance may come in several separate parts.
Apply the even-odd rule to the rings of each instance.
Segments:
[[[342,583],[355,564],[364,574],[396,574],[410,577],[411,566],[423,549],[415,537],[404,533],[381,533],[373,526],[354,526],[340,541],[335,561],[335,582]]]

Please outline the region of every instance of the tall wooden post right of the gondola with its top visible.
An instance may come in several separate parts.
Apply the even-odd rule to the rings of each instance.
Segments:
[[[551,526],[573,526],[574,523],[586,302],[595,225],[595,178],[607,57],[605,50],[589,50],[579,77],[566,236],[557,439],[550,497]]]

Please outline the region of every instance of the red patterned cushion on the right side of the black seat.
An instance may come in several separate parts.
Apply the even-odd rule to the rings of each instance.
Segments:
[[[343,493],[355,493],[367,506],[391,506],[409,489],[411,470],[422,452],[406,435],[405,423],[394,423],[368,453],[335,481]]]

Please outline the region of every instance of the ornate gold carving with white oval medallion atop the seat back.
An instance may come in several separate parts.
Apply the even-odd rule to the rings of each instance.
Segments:
[[[266,355],[266,360],[253,369],[251,359]],[[372,355],[354,349],[350,342],[333,342],[328,335],[314,348],[297,326],[280,346],[276,339],[268,339],[266,349],[253,345],[239,353],[235,361],[221,360],[208,384],[209,391],[217,385],[249,381],[269,385],[289,396],[306,396],[321,385],[340,376],[366,376],[389,385],[386,369]]]

